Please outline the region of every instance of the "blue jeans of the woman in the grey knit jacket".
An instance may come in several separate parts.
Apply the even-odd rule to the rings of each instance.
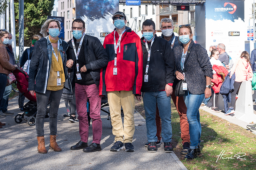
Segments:
[[[189,124],[189,135],[190,135],[190,148],[196,149],[197,145],[200,144],[201,137],[201,123],[200,123],[200,114],[199,107],[204,100],[204,93],[201,95],[192,95],[187,90],[185,93],[184,101],[187,106],[187,117]]]

